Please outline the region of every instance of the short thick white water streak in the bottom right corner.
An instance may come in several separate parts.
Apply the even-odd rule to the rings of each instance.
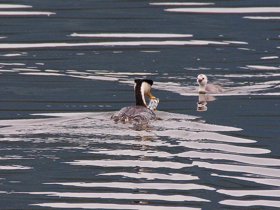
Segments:
[[[280,207],[280,201],[273,200],[223,200],[218,202],[224,205],[230,206],[270,206],[270,207]]]

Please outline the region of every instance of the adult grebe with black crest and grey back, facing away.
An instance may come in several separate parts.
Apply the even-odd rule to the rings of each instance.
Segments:
[[[115,122],[129,122],[129,121],[147,121],[156,120],[155,113],[147,108],[145,95],[150,99],[157,99],[151,93],[150,89],[153,81],[149,79],[134,80],[134,92],[136,99],[136,106],[127,106],[111,116],[111,120]]]

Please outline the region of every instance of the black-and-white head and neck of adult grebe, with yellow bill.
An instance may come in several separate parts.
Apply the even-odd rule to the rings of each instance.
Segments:
[[[150,93],[152,85],[153,81],[149,79],[134,80],[136,106],[139,105],[147,107],[145,95],[147,95],[150,99],[155,99],[155,97]]]

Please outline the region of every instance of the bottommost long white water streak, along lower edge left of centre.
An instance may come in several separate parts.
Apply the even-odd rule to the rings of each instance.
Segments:
[[[29,206],[43,206],[52,208],[78,208],[78,209],[120,209],[120,210],[201,210],[199,208],[180,207],[180,206],[150,206],[150,205],[123,205],[123,204],[104,204],[104,203],[42,203],[29,204]]]

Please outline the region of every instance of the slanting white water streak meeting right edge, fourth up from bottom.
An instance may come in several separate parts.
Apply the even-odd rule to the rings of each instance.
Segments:
[[[192,162],[193,166],[198,166],[201,168],[207,169],[215,169],[220,171],[233,171],[233,172],[245,172],[249,174],[258,174],[263,176],[270,177],[280,177],[280,169],[277,168],[267,168],[260,166],[243,166],[243,165],[235,165],[235,164],[213,164],[208,162]]]

